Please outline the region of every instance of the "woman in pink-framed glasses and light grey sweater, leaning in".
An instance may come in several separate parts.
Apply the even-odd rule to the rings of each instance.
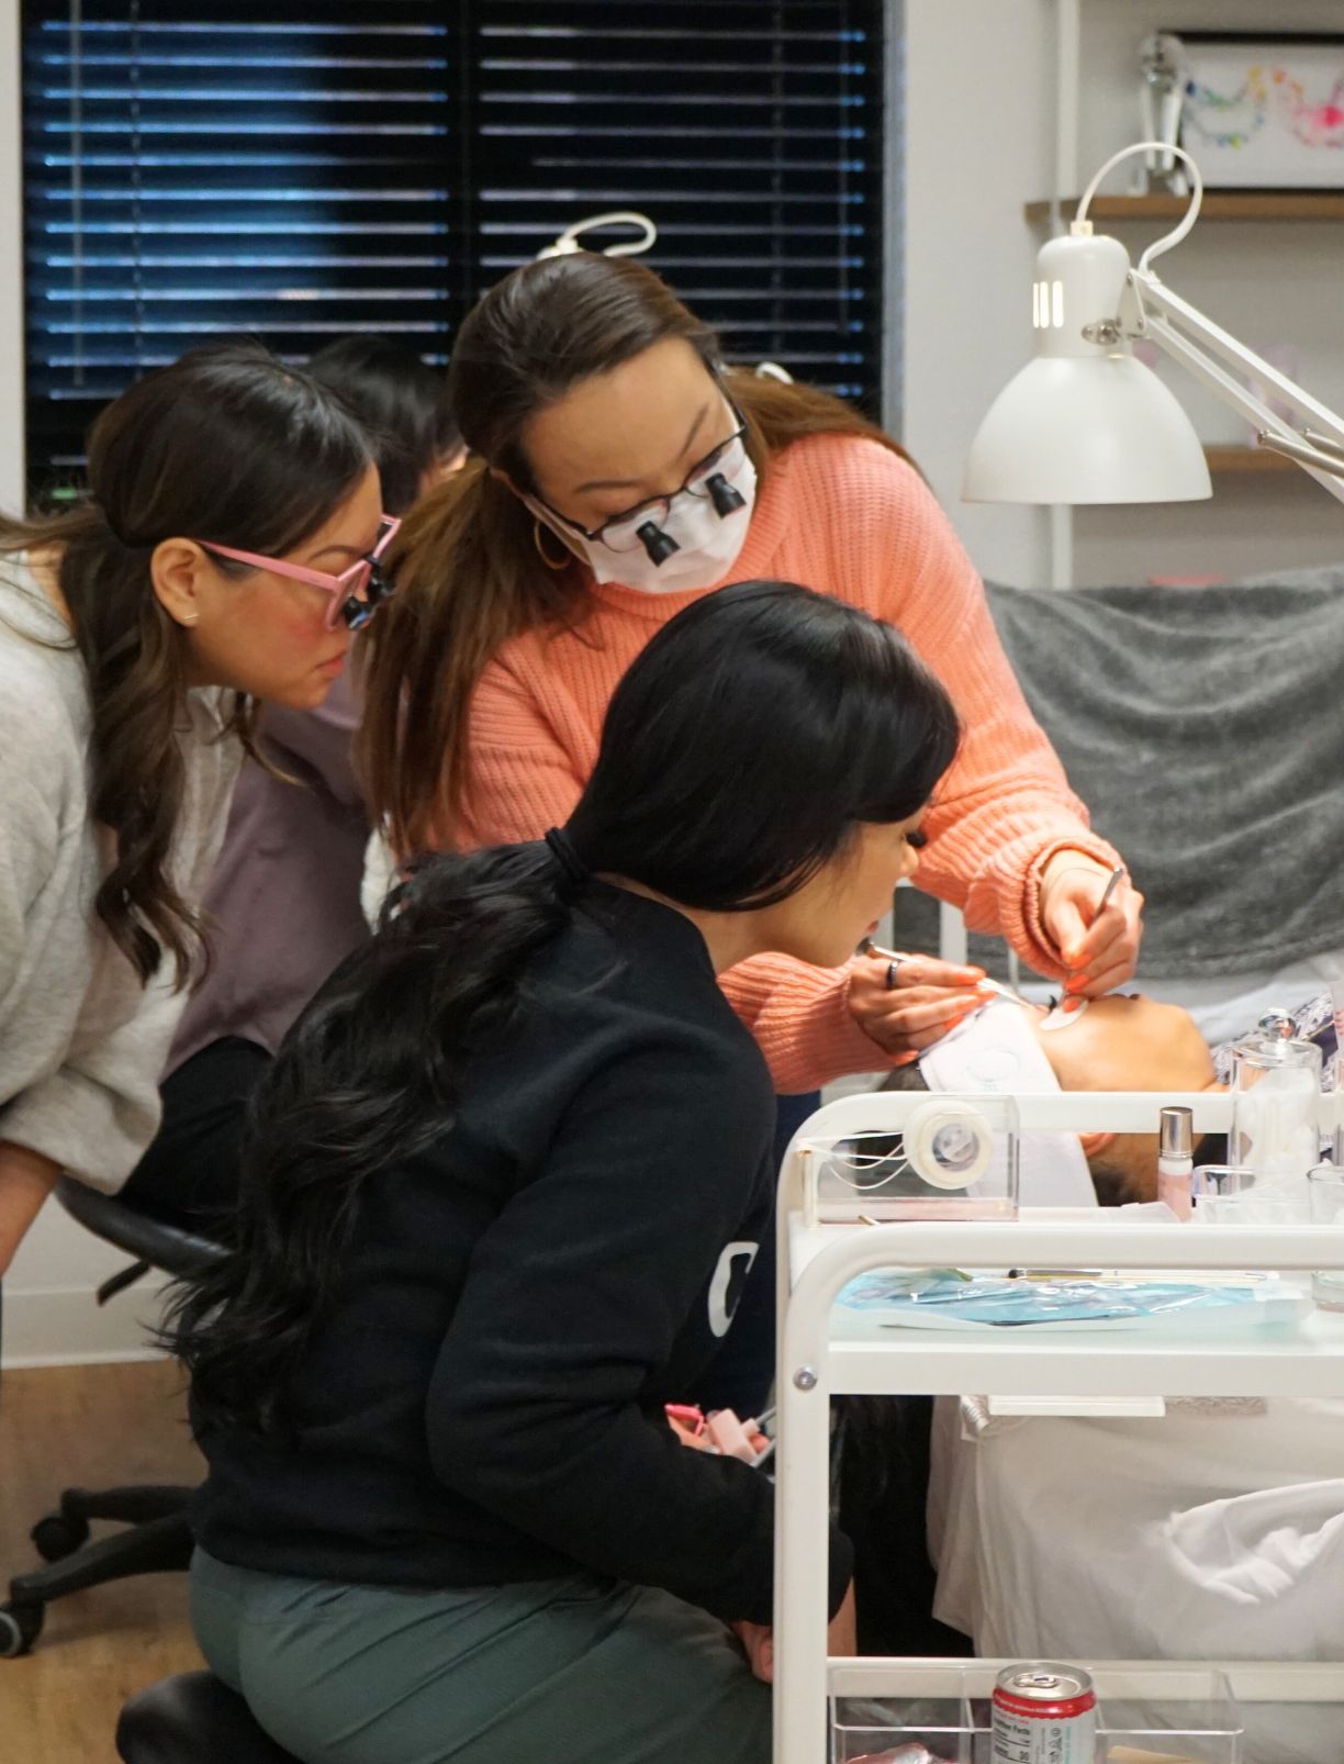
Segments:
[[[0,1272],[62,1170],[113,1192],[153,1138],[256,704],[323,702],[395,529],[355,418],[254,344],[116,399],[88,489],[0,519]]]

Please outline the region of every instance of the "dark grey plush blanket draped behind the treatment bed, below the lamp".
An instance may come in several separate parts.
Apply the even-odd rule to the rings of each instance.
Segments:
[[[1141,975],[1344,946],[1344,570],[988,594],[1069,781],[1148,898]]]

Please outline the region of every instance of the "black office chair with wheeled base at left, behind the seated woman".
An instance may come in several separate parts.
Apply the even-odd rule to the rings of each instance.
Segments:
[[[205,1237],[155,1219],[97,1189],[62,1177],[56,1200],[95,1237],[106,1238],[134,1256],[134,1263],[99,1288],[106,1304],[150,1268],[166,1274],[194,1274],[217,1261],[224,1251]],[[106,1581],[125,1581],[136,1573],[182,1570],[190,1561],[192,1540],[187,1528],[187,1503],[192,1489],[65,1489],[60,1508],[32,1528],[37,1554],[49,1563],[9,1582],[9,1602],[0,1605],[0,1658],[28,1653],[42,1630],[46,1607],[67,1593],[81,1593]],[[88,1542],[90,1519],[118,1519],[127,1529]]]

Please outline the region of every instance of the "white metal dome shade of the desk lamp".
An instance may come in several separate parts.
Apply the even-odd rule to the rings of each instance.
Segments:
[[[1037,261],[1037,355],[998,393],[970,448],[970,503],[1192,503],[1210,497],[1205,450],[1115,319],[1129,256],[1111,238],[1051,240]]]

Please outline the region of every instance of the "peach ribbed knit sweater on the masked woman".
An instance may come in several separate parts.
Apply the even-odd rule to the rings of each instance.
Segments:
[[[803,582],[900,626],[961,714],[956,766],[926,818],[919,886],[1002,931],[1058,974],[1035,912],[1039,873],[1062,847],[1115,863],[1032,720],[981,580],[919,475],[854,436],[813,436],[771,460],[746,545],[714,587],[755,577]],[[526,632],[485,669],[471,714],[467,811],[457,843],[540,838],[570,817],[593,771],[607,704],[653,633],[700,594],[593,586],[577,628]],[[723,975],[781,1092],[811,1090],[889,1057],[848,1011],[848,968],[757,956]]]

